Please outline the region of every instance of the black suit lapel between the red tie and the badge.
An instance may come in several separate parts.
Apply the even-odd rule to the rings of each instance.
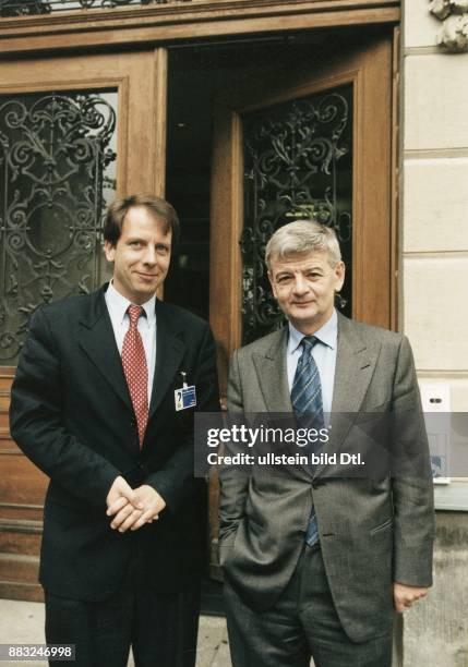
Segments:
[[[156,300],[156,368],[149,403],[149,420],[172,384],[185,353],[181,331],[170,316],[167,305]],[[190,384],[190,377],[188,377]],[[178,387],[182,386],[182,377]]]

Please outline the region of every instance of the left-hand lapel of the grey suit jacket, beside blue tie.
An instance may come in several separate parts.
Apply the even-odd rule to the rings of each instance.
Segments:
[[[272,345],[265,354],[253,354],[267,412],[292,412],[286,365],[288,328],[276,331]]]

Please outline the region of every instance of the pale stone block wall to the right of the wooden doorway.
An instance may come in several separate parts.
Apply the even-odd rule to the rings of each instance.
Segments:
[[[468,43],[446,36],[467,17],[465,0],[404,1],[400,322],[421,384],[448,385],[454,412],[468,411],[468,53],[451,49]],[[467,566],[467,512],[437,512],[434,587],[405,615],[403,667],[468,665]]]

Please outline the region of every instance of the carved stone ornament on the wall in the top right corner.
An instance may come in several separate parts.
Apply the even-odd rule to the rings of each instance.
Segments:
[[[447,51],[468,51],[468,0],[431,0],[430,12],[442,21],[437,44]]]

